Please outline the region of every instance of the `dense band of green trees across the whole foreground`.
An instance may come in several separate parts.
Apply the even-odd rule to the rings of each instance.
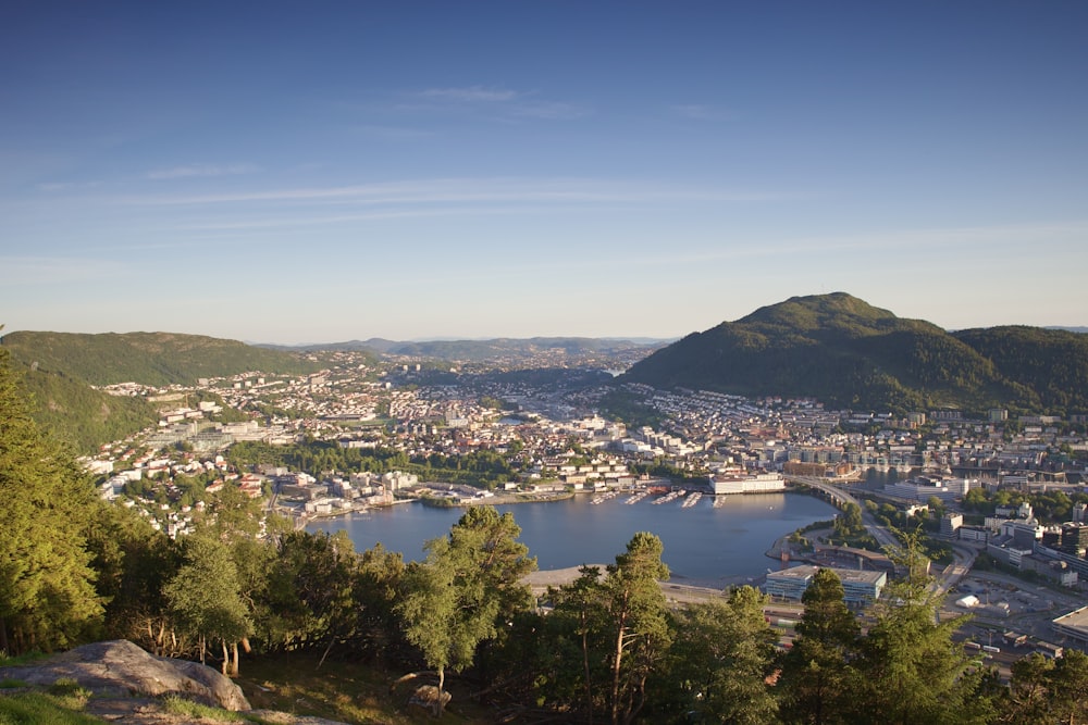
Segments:
[[[1000,684],[952,639],[925,583],[892,587],[863,630],[821,570],[792,648],[777,646],[752,587],[677,609],[662,542],[635,534],[615,563],[535,598],[509,513],[468,510],[424,561],[356,552],[344,534],[263,525],[227,487],[196,535],[174,541],[98,500],[34,423],[0,349],[0,649],[128,638],[156,654],[237,673],[246,657],[319,654],[425,682],[436,712],[450,678],[496,721],[1050,723],[1088,716],[1088,658],[1038,655]],[[899,552],[907,568],[917,551]]]

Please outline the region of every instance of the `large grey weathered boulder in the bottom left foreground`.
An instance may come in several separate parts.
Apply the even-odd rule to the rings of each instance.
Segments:
[[[250,709],[242,688],[218,671],[197,662],[153,657],[124,639],[84,645],[26,665],[0,667],[0,680],[48,687],[62,678],[103,697],[177,695],[224,710]]]

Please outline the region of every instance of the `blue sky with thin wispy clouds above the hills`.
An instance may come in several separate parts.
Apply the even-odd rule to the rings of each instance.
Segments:
[[[1088,325],[1088,3],[0,5],[0,324]]]

